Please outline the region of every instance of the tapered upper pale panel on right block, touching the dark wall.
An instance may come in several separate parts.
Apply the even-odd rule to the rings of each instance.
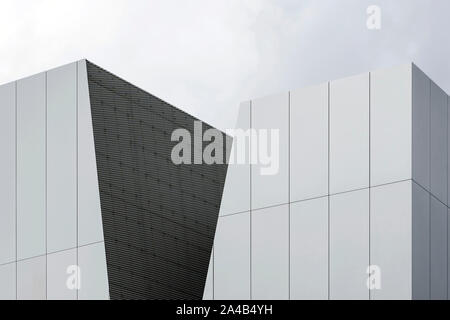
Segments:
[[[250,210],[250,102],[239,108],[219,215]],[[231,160],[234,162],[231,162]]]

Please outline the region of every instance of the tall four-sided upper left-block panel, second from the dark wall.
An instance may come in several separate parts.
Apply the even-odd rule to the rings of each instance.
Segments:
[[[47,252],[77,246],[77,64],[47,72]]]

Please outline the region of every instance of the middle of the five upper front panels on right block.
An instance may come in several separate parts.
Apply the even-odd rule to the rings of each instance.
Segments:
[[[328,84],[290,94],[290,201],[328,194]]]

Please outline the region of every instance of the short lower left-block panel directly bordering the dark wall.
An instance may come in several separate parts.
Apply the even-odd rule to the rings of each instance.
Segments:
[[[109,285],[103,242],[78,248],[78,265],[81,270],[79,300],[108,300]]]

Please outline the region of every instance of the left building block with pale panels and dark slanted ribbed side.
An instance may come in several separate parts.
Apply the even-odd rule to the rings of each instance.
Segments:
[[[227,165],[171,133],[210,126],[86,60],[0,107],[0,299],[202,298]]]

